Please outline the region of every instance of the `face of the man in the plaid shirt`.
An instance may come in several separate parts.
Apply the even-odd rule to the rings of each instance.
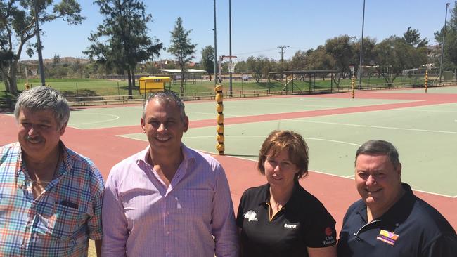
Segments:
[[[18,117],[18,140],[22,151],[32,159],[42,159],[56,150],[66,124],[60,127],[52,110],[32,112],[22,108]]]

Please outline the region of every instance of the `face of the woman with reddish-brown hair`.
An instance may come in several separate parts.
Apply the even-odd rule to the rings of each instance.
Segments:
[[[294,186],[295,175],[299,169],[290,161],[288,150],[281,150],[276,156],[270,151],[267,154],[264,167],[266,180],[270,187],[290,189]]]

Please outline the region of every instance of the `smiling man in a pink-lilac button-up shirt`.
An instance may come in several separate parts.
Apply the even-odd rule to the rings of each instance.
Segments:
[[[219,162],[181,138],[189,126],[172,91],[150,95],[145,150],[112,167],[103,198],[103,256],[238,256],[238,232]]]

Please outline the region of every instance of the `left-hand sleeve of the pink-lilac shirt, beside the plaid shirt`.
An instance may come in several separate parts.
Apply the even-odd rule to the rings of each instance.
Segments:
[[[126,244],[129,232],[127,218],[117,192],[117,183],[113,170],[106,181],[103,196],[103,242],[102,256],[126,256]]]

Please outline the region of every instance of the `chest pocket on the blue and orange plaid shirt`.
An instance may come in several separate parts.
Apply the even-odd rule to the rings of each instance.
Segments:
[[[82,225],[83,217],[84,213],[80,212],[77,208],[56,203],[55,211],[49,218],[45,216],[40,217],[39,228],[41,228],[41,233],[45,235],[70,240]]]

